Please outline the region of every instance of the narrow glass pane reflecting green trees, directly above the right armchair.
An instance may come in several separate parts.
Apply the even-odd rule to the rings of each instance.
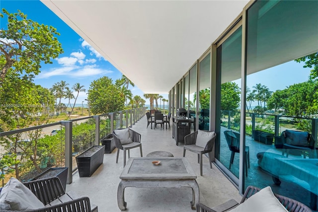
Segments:
[[[200,61],[199,129],[210,130],[211,53]]]

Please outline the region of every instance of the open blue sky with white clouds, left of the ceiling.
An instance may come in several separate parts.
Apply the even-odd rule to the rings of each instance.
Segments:
[[[51,88],[54,83],[63,80],[69,84],[69,88],[72,88],[75,83],[79,83],[86,89],[86,92],[79,93],[77,104],[81,104],[82,101],[87,99],[86,93],[93,80],[107,76],[115,82],[116,79],[121,78],[122,74],[112,64],[106,61],[41,1],[1,0],[0,8],[5,8],[9,13],[17,12],[17,9],[19,9],[27,14],[29,19],[40,24],[51,25],[61,34],[58,36],[58,40],[62,43],[64,53],[53,60],[53,64],[41,64],[41,73],[35,77],[35,84],[44,88]],[[0,28],[6,28],[7,23],[2,20],[6,19],[1,18]],[[130,87],[130,90],[134,96],[139,95],[144,98],[144,93],[137,86]],[[76,94],[74,95],[76,96]],[[167,99],[167,94],[161,95]],[[74,103],[74,101],[71,101],[71,103]],[[64,103],[67,104],[68,100],[65,100]],[[86,101],[84,101],[84,104],[86,104]],[[149,99],[147,99],[146,105],[149,104]]]

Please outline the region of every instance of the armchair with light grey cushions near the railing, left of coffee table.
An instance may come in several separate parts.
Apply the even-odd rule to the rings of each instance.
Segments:
[[[141,134],[131,128],[115,129],[113,131],[115,146],[117,148],[116,163],[118,163],[119,150],[124,151],[124,167],[126,166],[126,150],[128,150],[128,158],[130,158],[130,149],[139,147],[140,156],[143,157],[141,147]]]

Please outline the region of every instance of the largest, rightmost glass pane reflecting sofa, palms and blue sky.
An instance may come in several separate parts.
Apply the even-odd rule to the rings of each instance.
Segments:
[[[246,39],[245,187],[271,186],[317,210],[317,137],[307,152],[291,139],[317,136],[318,1],[255,1]]]

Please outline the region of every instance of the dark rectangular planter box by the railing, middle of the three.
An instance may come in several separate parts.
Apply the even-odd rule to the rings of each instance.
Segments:
[[[105,146],[92,146],[76,157],[79,177],[90,177],[103,163]]]

